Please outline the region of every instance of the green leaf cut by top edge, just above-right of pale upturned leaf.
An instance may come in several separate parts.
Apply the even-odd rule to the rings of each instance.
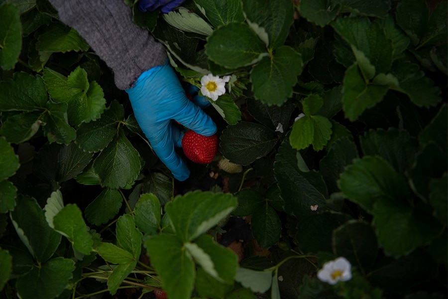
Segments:
[[[195,3],[215,28],[244,21],[239,0],[195,0]]]

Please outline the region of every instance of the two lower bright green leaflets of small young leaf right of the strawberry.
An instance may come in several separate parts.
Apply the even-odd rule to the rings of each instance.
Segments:
[[[318,151],[324,149],[332,136],[332,123],[321,115],[305,116],[292,126],[289,137],[294,149],[306,149],[310,144]]]

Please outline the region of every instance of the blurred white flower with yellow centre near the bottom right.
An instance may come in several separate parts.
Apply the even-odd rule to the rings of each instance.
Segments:
[[[338,281],[345,282],[351,279],[351,264],[344,257],[329,261],[318,272],[319,280],[336,285]]]

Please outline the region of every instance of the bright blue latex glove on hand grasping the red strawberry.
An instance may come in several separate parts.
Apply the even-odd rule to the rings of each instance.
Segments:
[[[176,179],[186,180],[190,170],[174,150],[182,147],[182,134],[173,120],[204,136],[216,133],[213,120],[187,98],[168,61],[142,73],[126,92],[154,152]]]

